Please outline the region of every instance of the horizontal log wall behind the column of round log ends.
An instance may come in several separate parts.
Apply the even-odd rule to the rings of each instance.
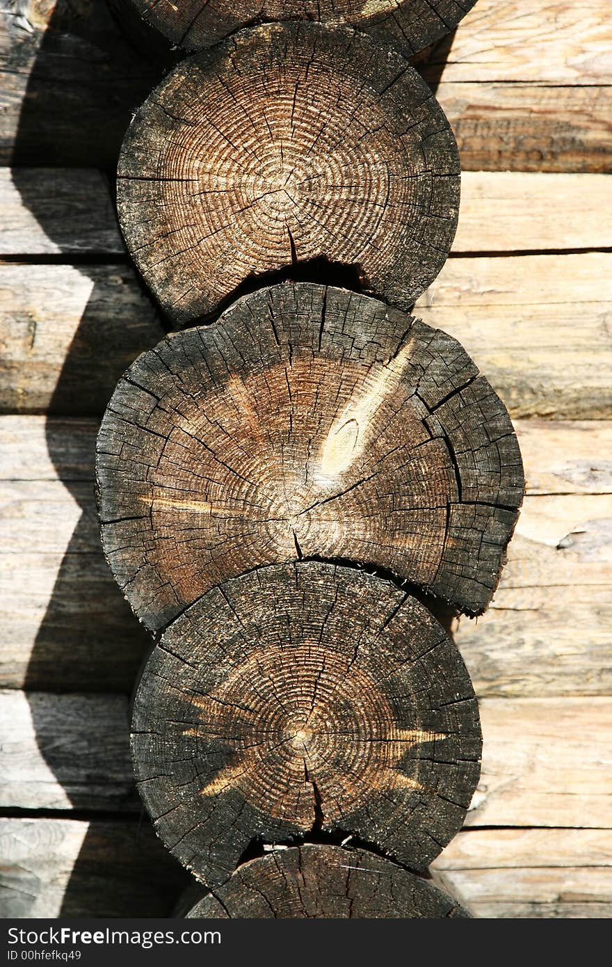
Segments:
[[[481,8],[485,0],[465,18],[453,44],[476,36],[471,24]],[[518,0],[505,8],[510,21],[524,13]],[[550,40],[537,8],[529,5],[531,36],[538,35],[540,14],[542,37]],[[109,62],[104,38],[114,28],[104,21],[102,8],[95,9],[103,30],[96,34],[99,28],[92,28],[87,43],[98,52],[100,66]],[[60,64],[62,71],[73,70],[71,51],[82,50],[85,41],[78,32],[58,29],[61,19],[45,41],[44,23],[33,10],[31,5],[21,14],[32,16],[33,33],[13,17],[3,36],[10,62],[18,57],[25,65],[12,77],[13,106],[3,115],[5,161],[86,167],[51,172],[19,167],[5,169],[2,179],[3,210],[11,216],[0,264],[5,280],[0,514],[7,551],[0,561],[7,628],[1,707],[11,723],[0,836],[5,895],[13,904],[6,909],[22,916],[95,916],[137,914],[146,907],[161,914],[171,907],[170,894],[172,903],[179,894],[182,874],[164,851],[151,851],[148,834],[131,821],[138,805],[125,744],[126,695],[147,639],[134,628],[105,571],[92,479],[93,442],[105,401],[126,364],[162,331],[122,254],[107,183],[98,172],[116,158],[112,140],[102,143],[98,130],[101,120],[106,130],[116,125],[118,146],[123,129],[108,105],[114,98],[116,107],[121,95],[102,85],[103,97],[96,100],[99,85],[91,94],[89,132],[85,125],[80,140],[74,127],[71,136],[62,136],[77,115],[71,115],[57,77],[55,87],[51,80]],[[496,17],[486,16],[496,41],[499,37],[497,74],[478,84],[476,76],[452,81],[456,65],[449,58],[438,89],[443,104],[448,71],[449,83],[473,88],[471,96],[480,103],[487,97],[495,103],[497,97],[504,106],[510,90],[504,64],[516,50],[502,18],[496,34]],[[456,257],[419,307],[426,322],[427,311],[448,306],[436,325],[463,342],[509,404],[527,470],[527,500],[493,605],[478,624],[461,619],[455,630],[481,698],[485,758],[468,826],[436,865],[481,916],[600,917],[609,916],[612,906],[610,817],[602,795],[609,791],[610,714],[605,249],[612,246],[602,204],[609,190],[597,175],[605,170],[606,137],[590,113],[594,105],[597,111],[597,86],[603,85],[603,23],[597,10],[590,34],[568,23],[567,33],[555,35],[552,56],[533,61],[539,78],[514,76],[532,98],[530,111],[534,98],[541,103],[537,91],[561,85],[556,106],[561,115],[563,99],[572,103],[576,139],[560,158],[559,143],[545,140],[550,129],[534,126],[525,108],[521,118],[515,102],[514,120],[508,123],[505,115],[507,154],[495,148],[494,137],[478,141],[478,151],[493,145],[488,161],[478,165],[492,170],[464,175]],[[585,49],[574,57],[582,37]],[[68,55],[63,60],[60,46]],[[469,70],[464,58],[463,71],[466,61]],[[136,98],[141,101],[155,72],[133,57],[131,62],[142,72],[143,90]],[[89,94],[94,85],[85,60],[79,70]],[[580,86],[573,86],[576,72],[584,72],[594,88],[588,115],[580,106],[586,103],[580,102]],[[41,78],[48,121],[40,130],[49,134],[37,144],[32,132],[43,120],[36,98]],[[61,98],[54,93],[59,90]],[[462,164],[470,167],[474,155],[461,150],[460,119],[453,120],[445,106],[459,135]],[[487,123],[497,123],[495,113]],[[552,124],[554,118],[548,120]],[[530,126],[539,170],[593,174],[496,171],[498,165],[512,166],[505,163],[512,138],[524,136]],[[520,151],[512,164],[531,166]],[[46,190],[51,184],[54,190]],[[100,726],[85,731],[82,723],[92,717]],[[91,765],[86,775],[78,768],[85,756]],[[83,810],[78,819],[71,818],[75,809]],[[142,907],[136,907],[135,885],[142,881],[147,894],[140,894]]]

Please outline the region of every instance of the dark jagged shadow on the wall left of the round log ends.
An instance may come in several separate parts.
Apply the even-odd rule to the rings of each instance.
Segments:
[[[11,163],[15,166],[15,187],[23,205],[53,240],[54,225],[44,214],[40,195],[32,192],[27,172],[19,170],[19,166],[95,166],[105,172],[112,191],[123,134],[134,109],[160,79],[167,50],[162,51],[161,59],[160,48],[151,48],[155,55],[152,59],[144,56],[143,50],[151,46],[150,38],[145,36],[135,46],[131,44],[109,14],[104,0],[59,0],[53,13],[45,19],[45,6],[48,9],[50,5],[52,0],[46,4],[44,0],[15,0],[16,13],[26,20],[28,16],[34,19],[34,33],[19,27],[15,17],[11,27],[14,40],[11,70],[16,75],[27,75],[28,80],[25,92],[18,92],[21,110]],[[132,29],[131,24],[129,33]],[[426,73],[434,90],[452,36],[435,47],[435,56],[430,54],[429,61],[420,55],[422,68],[427,63],[431,65],[426,67]],[[100,373],[97,379],[90,378],[92,366],[96,367],[97,361],[104,359],[105,339],[111,331],[106,326],[105,314],[113,311],[113,305],[108,304],[107,286],[101,279],[104,273],[114,273],[123,275],[127,284],[135,284],[125,257],[117,256],[110,267],[101,264],[104,259],[96,253],[92,254],[96,257],[91,265],[84,256],[77,260],[75,271],[91,280],[92,291],[48,407],[45,434],[58,478],[71,493],[81,516],[64,553],[37,633],[24,689],[49,690],[48,682],[57,682],[56,669],[64,662],[63,689],[86,690],[82,675],[71,679],[73,655],[74,667],[82,667],[83,662],[91,665],[89,690],[128,694],[151,639],[132,616],[103,562],[93,479],[75,477],[67,466],[66,434],[71,429],[58,426],[57,418],[99,419],[125,366],[139,352],[150,348],[162,336],[162,329],[160,324],[156,328],[155,310],[143,297],[143,307],[150,318],[143,327],[141,343],[137,335],[134,338],[133,333],[127,333],[121,351],[117,352],[114,346],[111,360],[104,360],[102,378]],[[38,261],[36,257],[32,260]],[[69,265],[74,262],[69,253],[64,260]],[[112,327],[112,332],[118,334],[121,330]],[[113,360],[117,361],[116,365]],[[114,657],[107,654],[110,639],[114,642]],[[124,659],[117,662],[118,648]],[[53,690],[58,689],[54,686]],[[83,793],[76,789],[78,770],[82,771],[85,788],[98,778],[103,785],[107,777],[90,775],[86,763],[74,762],[65,749],[58,752],[57,734],[62,723],[49,728],[48,713],[41,710],[39,702],[31,702],[31,711],[37,742],[49,769],[66,789],[75,810],[89,808],[86,794],[83,799]],[[103,744],[104,734],[99,731],[89,741]],[[127,756],[127,721],[125,745]],[[130,802],[134,802],[132,796],[128,793],[126,802],[117,802],[113,809],[121,812],[129,808]],[[84,811],[77,814],[86,815]],[[153,841],[146,822],[122,820],[116,814],[92,814],[60,916],[168,916],[186,879],[187,874]],[[27,902],[20,901],[20,912],[15,916],[27,917],[28,909]]]

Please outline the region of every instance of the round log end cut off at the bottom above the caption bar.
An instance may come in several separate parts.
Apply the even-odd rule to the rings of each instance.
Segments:
[[[306,845],[240,866],[185,914],[201,920],[275,917],[441,920],[469,918],[420,876],[360,849]]]

